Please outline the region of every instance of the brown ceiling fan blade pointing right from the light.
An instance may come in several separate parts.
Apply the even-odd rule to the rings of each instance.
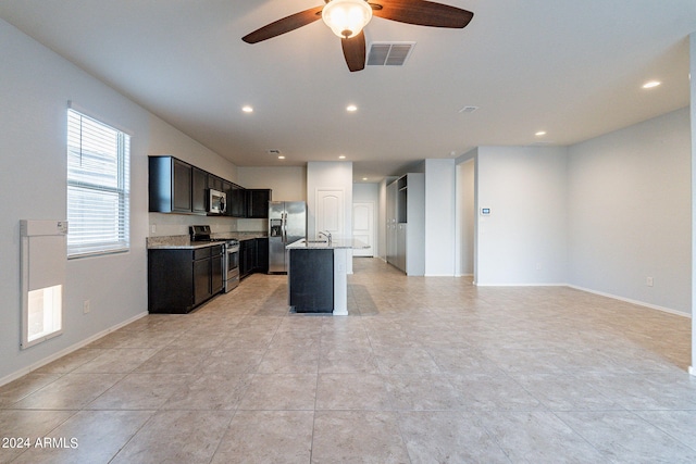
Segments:
[[[399,23],[462,28],[474,17],[471,11],[425,0],[375,0],[372,14]]]

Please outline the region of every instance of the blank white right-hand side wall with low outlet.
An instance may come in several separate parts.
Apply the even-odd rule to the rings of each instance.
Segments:
[[[570,284],[691,313],[689,130],[683,109],[570,147]]]

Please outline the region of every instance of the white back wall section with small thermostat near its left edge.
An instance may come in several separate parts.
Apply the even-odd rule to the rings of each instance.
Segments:
[[[477,285],[567,281],[567,149],[480,147]],[[489,208],[489,216],[481,216]]]

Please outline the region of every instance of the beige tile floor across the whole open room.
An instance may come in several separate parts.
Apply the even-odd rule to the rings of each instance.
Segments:
[[[32,442],[0,462],[696,462],[689,319],[355,271],[347,317],[290,314],[285,277],[253,275],[0,388],[0,435]]]

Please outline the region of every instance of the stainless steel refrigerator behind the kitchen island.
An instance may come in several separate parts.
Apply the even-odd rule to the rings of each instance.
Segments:
[[[285,247],[307,238],[307,203],[303,201],[269,202],[269,274],[287,273]]]

